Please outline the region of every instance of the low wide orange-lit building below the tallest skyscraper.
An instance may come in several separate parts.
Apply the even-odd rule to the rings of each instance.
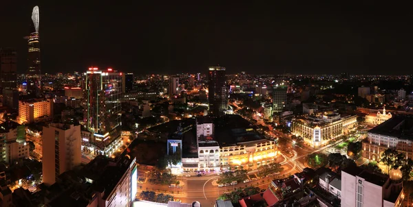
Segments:
[[[30,99],[19,101],[20,123],[33,123],[38,119],[53,117],[53,99]]]

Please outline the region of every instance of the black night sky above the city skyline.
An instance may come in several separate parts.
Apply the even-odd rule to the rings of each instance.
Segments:
[[[0,1],[0,47],[16,48],[25,71],[23,37],[39,5],[42,73],[92,65],[197,73],[216,64],[229,73],[413,73],[408,5],[125,2]]]

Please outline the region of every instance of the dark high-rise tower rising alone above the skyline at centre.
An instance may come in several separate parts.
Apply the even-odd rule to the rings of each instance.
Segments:
[[[208,74],[209,112],[213,116],[225,113],[228,101],[226,90],[225,67],[210,66]]]

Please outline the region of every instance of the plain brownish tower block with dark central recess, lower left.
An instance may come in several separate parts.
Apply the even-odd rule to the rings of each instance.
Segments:
[[[57,176],[81,165],[81,125],[51,123],[43,127],[43,183],[50,186]]]

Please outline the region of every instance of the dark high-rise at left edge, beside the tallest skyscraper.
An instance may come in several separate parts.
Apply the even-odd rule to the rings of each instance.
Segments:
[[[17,88],[17,53],[11,48],[0,48],[0,93],[2,89]]]

